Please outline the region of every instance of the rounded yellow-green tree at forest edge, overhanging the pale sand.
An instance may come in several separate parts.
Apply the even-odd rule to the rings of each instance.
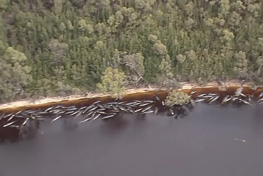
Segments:
[[[109,93],[115,97],[122,97],[125,93],[125,74],[118,69],[107,67],[102,76],[102,82],[97,84],[97,91]]]

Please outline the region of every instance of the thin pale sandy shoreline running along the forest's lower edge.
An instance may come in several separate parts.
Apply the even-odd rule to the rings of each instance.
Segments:
[[[224,87],[236,87],[236,86],[241,86],[241,83],[232,80],[230,82],[222,82],[225,86]],[[249,87],[250,83],[245,83],[243,86]],[[213,88],[213,87],[220,87],[220,85],[217,82],[210,82],[204,86],[200,84],[190,84],[188,82],[181,82],[181,87],[178,89],[178,91],[190,91],[190,89],[207,89],[207,88]],[[261,86],[263,87],[263,86]],[[145,93],[145,92],[153,92],[153,91],[167,91],[167,88],[164,87],[140,87],[140,88],[128,88],[126,89],[125,92],[125,97],[131,94],[136,94],[136,93]],[[101,98],[101,97],[110,97],[111,95],[109,94],[102,94],[102,93],[95,93],[95,92],[90,92],[86,96],[76,94],[76,95],[70,95],[66,97],[46,97],[43,99],[38,99],[38,100],[33,100],[33,99],[26,99],[26,100],[18,100],[18,101],[13,101],[5,104],[0,104],[0,111],[2,110],[7,110],[7,109],[12,109],[12,108],[23,108],[25,106],[41,106],[45,104],[54,104],[54,103],[59,103],[59,102],[69,102],[69,101],[77,101],[81,99],[94,99],[94,98]]]

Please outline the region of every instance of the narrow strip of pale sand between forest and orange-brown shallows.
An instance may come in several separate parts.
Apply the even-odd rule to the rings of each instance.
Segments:
[[[226,87],[232,87],[232,86],[240,86],[241,84],[238,81],[231,81],[224,83]],[[189,84],[187,82],[181,83],[181,88],[178,89],[178,91],[186,90],[186,89],[198,89],[198,88],[209,88],[209,87],[216,87],[218,86],[217,82],[210,82],[206,84],[205,86],[201,86],[199,84]],[[244,84],[245,86],[249,86],[249,83]],[[125,95],[134,94],[134,93],[143,93],[143,92],[149,92],[157,90],[157,87],[142,87],[142,88],[133,88],[133,89],[126,89]],[[159,88],[159,90],[164,90],[164,88]],[[60,102],[60,101],[76,101],[78,99],[83,98],[94,98],[94,97],[104,97],[109,96],[105,94],[99,94],[99,93],[89,93],[87,96],[81,96],[81,95],[70,95],[68,97],[47,97],[44,99],[38,99],[38,100],[21,100],[21,101],[14,101],[9,102],[6,104],[0,105],[0,111],[4,109],[11,109],[11,108],[17,108],[17,107],[23,107],[23,106],[29,106],[29,105],[40,105],[41,104],[48,104],[48,103],[54,103],[54,102]]]

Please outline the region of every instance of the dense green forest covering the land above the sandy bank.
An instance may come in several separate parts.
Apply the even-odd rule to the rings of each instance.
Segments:
[[[262,84],[262,0],[0,0],[0,101]]]

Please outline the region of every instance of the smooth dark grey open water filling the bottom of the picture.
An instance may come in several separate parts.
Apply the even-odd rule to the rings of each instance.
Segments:
[[[184,119],[147,116],[122,129],[100,121],[0,146],[0,176],[261,176],[263,106],[198,104]],[[241,140],[235,140],[239,138]],[[244,139],[246,142],[242,142]]]

